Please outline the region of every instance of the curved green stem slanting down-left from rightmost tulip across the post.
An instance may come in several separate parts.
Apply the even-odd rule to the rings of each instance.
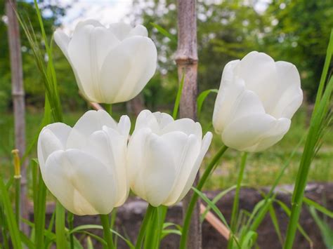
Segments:
[[[223,147],[221,147],[221,149],[218,150],[218,152],[216,153],[214,158],[211,159],[206,170],[204,170],[204,174],[200,178],[200,181],[198,182],[196,189],[198,189],[198,190],[202,189],[202,187],[204,186],[204,183],[206,182],[207,178],[209,177],[211,171],[214,169],[214,166],[216,165],[218,160],[221,159],[221,156],[223,156],[224,152],[226,152],[227,149],[228,149],[228,147],[226,147],[226,145],[223,145]],[[188,228],[190,227],[190,220],[191,220],[191,216],[193,213],[193,209],[195,208],[195,203],[197,203],[197,198],[199,198],[198,194],[193,193],[190,203],[188,205],[188,210],[186,211],[185,219],[184,219],[183,231],[181,234],[181,243],[179,245],[180,249],[186,248],[186,242],[187,242],[187,237],[188,237]]]

